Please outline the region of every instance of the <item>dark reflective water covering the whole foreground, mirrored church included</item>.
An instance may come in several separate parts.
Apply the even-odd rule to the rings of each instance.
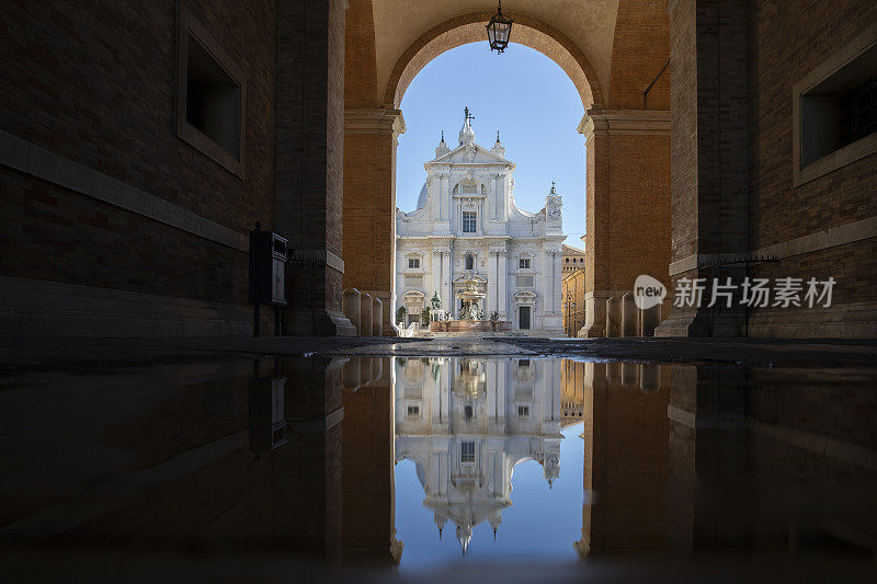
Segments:
[[[0,573],[877,575],[877,368],[855,360],[867,344],[816,367],[521,343],[7,368]],[[493,353],[463,354],[475,350]]]

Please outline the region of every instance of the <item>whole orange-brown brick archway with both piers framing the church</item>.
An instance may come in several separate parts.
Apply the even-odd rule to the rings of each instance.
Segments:
[[[394,305],[395,295],[396,147],[398,135],[406,130],[399,105],[409,83],[429,61],[451,48],[483,41],[483,25],[491,16],[472,11],[440,20],[437,11],[430,16],[435,20],[421,24],[424,32],[386,67],[377,62],[373,4],[392,1],[351,0],[344,94],[344,287],[368,291],[385,306]],[[600,21],[604,54],[597,55],[597,67],[582,49],[584,33],[560,30],[562,15],[556,5],[528,5],[527,13],[508,11],[515,20],[513,42],[555,60],[572,80],[585,108],[578,129],[586,139],[584,304],[589,317],[581,331],[586,336],[604,334],[605,300],[614,290],[633,289],[638,274],[669,284],[669,82],[664,79],[654,85],[651,108],[641,98],[669,58],[667,2],[630,4],[610,7],[613,18]],[[593,46],[589,50],[600,54]],[[641,108],[636,108],[638,103]],[[647,245],[643,237],[651,239]],[[390,312],[385,311],[385,334],[394,334]]]

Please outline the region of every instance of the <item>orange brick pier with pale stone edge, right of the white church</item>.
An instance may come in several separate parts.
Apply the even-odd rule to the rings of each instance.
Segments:
[[[589,110],[585,324],[579,336],[605,334],[605,301],[633,290],[640,274],[670,284],[670,112]]]

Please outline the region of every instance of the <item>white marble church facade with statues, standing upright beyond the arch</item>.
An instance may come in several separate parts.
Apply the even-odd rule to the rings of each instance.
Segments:
[[[562,332],[560,306],[561,197],[551,186],[538,213],[514,201],[515,164],[497,141],[475,141],[466,111],[458,146],[442,141],[424,163],[426,182],[411,213],[396,210],[396,306],[407,325],[420,319],[437,293],[441,310],[462,318],[460,291],[483,294],[483,319],[497,312],[512,330],[533,335]]]

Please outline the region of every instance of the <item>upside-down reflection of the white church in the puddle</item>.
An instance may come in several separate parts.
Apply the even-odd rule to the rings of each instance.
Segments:
[[[496,537],[519,462],[537,460],[549,485],[560,474],[560,362],[396,363],[396,460],[414,461],[438,536],[453,523],[465,553],[481,523]]]

